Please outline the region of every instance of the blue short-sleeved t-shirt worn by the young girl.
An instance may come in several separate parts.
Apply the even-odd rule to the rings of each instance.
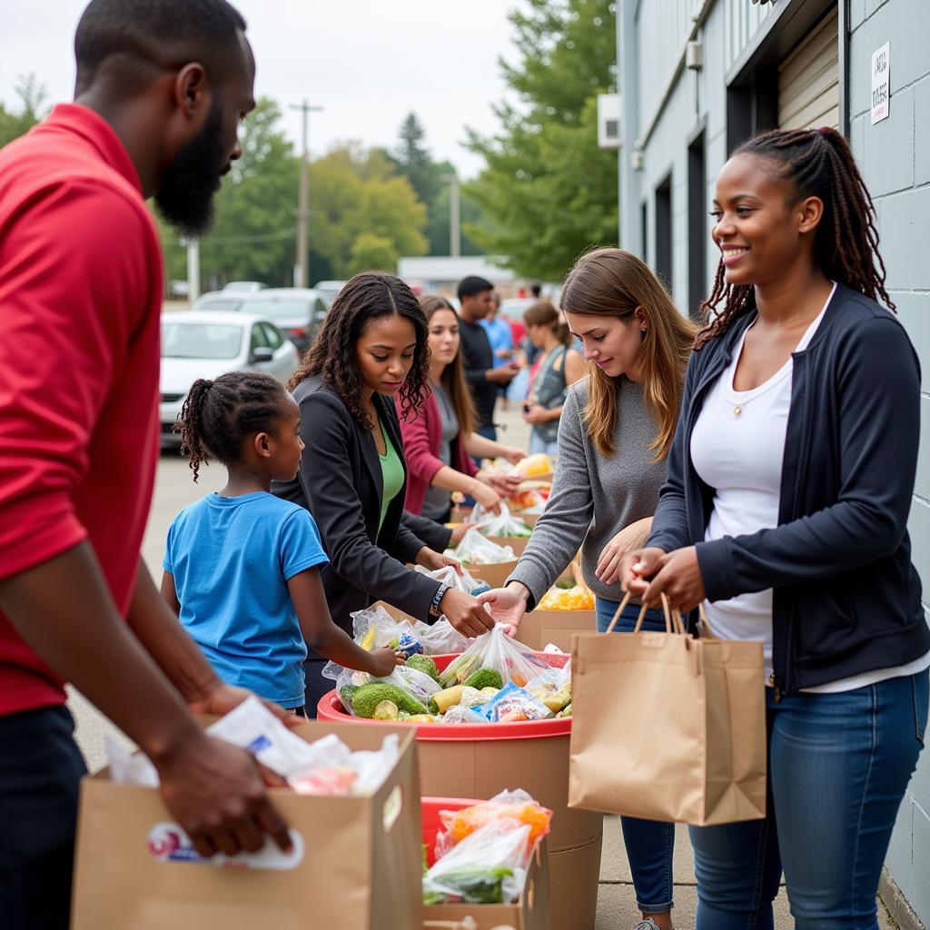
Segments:
[[[329,560],[309,512],[258,491],[211,494],[168,529],[180,622],[226,684],[302,707],[307,646],[287,580]]]

